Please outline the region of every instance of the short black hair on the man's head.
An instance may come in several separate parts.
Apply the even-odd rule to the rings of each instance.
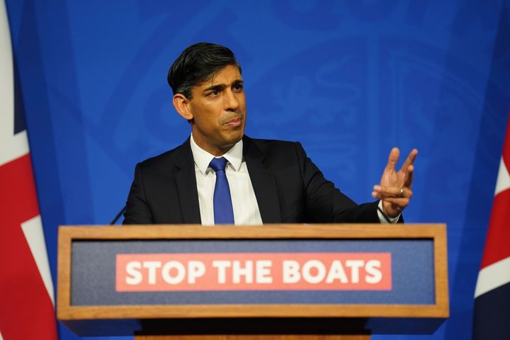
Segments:
[[[213,77],[227,65],[234,65],[241,73],[241,65],[229,48],[210,42],[197,42],[186,47],[171,65],[168,83],[174,94],[191,99],[191,88]]]

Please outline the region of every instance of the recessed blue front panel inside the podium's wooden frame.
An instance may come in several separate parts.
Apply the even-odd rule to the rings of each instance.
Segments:
[[[116,273],[118,268],[116,261],[118,256],[131,254],[131,261],[138,264],[132,269],[132,273],[140,278],[137,285],[145,288],[130,290],[117,289]],[[144,266],[142,255],[150,255],[150,260]],[[198,254],[198,256],[197,256]],[[204,261],[200,261],[202,254]],[[231,261],[222,264],[225,269],[221,271],[220,266],[207,266],[207,271],[213,271],[214,275],[205,277],[205,274],[197,278],[196,287],[193,290],[182,290],[183,285],[188,285],[189,278],[186,273],[189,262],[205,263],[205,259],[214,258],[216,261]],[[233,256],[226,256],[231,254]],[[286,257],[280,260],[281,255]],[[331,268],[331,261],[319,261],[311,263],[306,267],[308,276],[311,277],[310,285],[305,288],[296,289],[299,281],[307,282],[301,278],[298,282],[291,282],[280,285],[277,289],[276,283],[256,283],[256,259],[259,261],[271,261],[271,268],[266,266],[267,279],[274,279],[279,276],[280,268],[277,261],[293,261],[293,254],[306,254],[310,260],[317,261],[321,254],[334,254],[341,265]],[[345,255],[347,258],[342,261]],[[378,288],[373,283],[367,289],[358,288],[352,284],[352,273],[356,273],[356,266],[350,261],[364,261],[360,259],[363,255],[369,254],[367,261],[378,259],[378,255],[389,256],[391,259],[390,276],[383,279],[390,282],[387,287]],[[370,254],[372,257],[370,258]],[[174,256],[172,256],[174,255]],[[186,256],[187,255],[187,256]],[[256,256],[254,259],[244,259],[246,256]],[[358,255],[358,256],[356,256]],[[331,255],[330,255],[331,256]],[[335,257],[336,256],[336,257]],[[350,256],[350,257],[349,257]],[[277,259],[278,258],[278,259]],[[147,256],[145,256],[147,259]],[[227,260],[226,260],[227,259]],[[310,261],[309,260],[309,261]],[[178,261],[177,266],[167,266],[174,273],[166,273],[170,278],[182,278],[179,283],[167,283],[162,278],[162,268],[169,261]],[[213,259],[212,262],[215,260]],[[232,263],[239,261],[234,272]],[[334,260],[333,260],[334,261]],[[377,260],[376,260],[377,261]],[[210,261],[208,261],[210,262]],[[179,263],[181,263],[179,265]],[[306,261],[305,261],[306,263]],[[322,264],[321,264],[322,263]],[[209,263],[210,264],[210,263]],[[354,263],[359,265],[360,263]],[[349,266],[351,265],[351,266]],[[205,264],[200,267],[205,271]],[[278,267],[278,272],[275,273]],[[288,266],[289,267],[289,266]],[[300,266],[302,267],[302,266]],[[197,271],[197,266],[193,266]],[[179,273],[178,269],[181,269]],[[300,268],[302,269],[302,268]],[[341,274],[341,271],[344,274]],[[251,273],[246,273],[251,271]],[[289,273],[299,273],[295,268],[289,268]],[[321,273],[322,271],[322,273]],[[333,273],[333,272],[334,273]],[[363,271],[360,267],[358,271]],[[236,276],[237,285],[227,282],[215,285],[220,273],[224,276]],[[310,272],[310,273],[309,273]],[[331,274],[330,274],[331,273]],[[336,273],[336,275],[335,275]],[[154,276],[152,283],[147,283],[148,276]],[[289,274],[290,275],[290,274]],[[329,275],[331,283],[325,283]],[[363,274],[361,274],[363,275]],[[376,273],[377,275],[377,273]],[[144,278],[145,276],[145,278]],[[358,273],[359,276],[359,273]],[[322,280],[319,280],[323,277]],[[370,279],[371,276],[368,278]],[[125,276],[128,280],[135,277]],[[208,278],[200,287],[200,278]],[[246,284],[246,278],[251,278],[251,284]],[[344,282],[342,282],[342,279]],[[142,282],[145,281],[145,282]],[[169,280],[171,281],[171,279]],[[86,305],[208,305],[208,304],[411,304],[411,305],[433,305],[434,298],[434,275],[433,275],[433,242],[431,239],[335,239],[335,240],[266,240],[266,239],[218,239],[218,240],[133,240],[125,241],[90,241],[79,240],[72,243],[72,272],[71,290],[73,306]],[[348,284],[351,283],[350,287]],[[358,285],[363,283],[363,278],[358,277]],[[228,287],[222,288],[229,285]],[[325,287],[324,287],[325,286]],[[353,287],[352,287],[353,286]],[[320,287],[320,290],[315,289]],[[129,289],[129,287],[128,287]],[[189,288],[188,288],[189,289]]]

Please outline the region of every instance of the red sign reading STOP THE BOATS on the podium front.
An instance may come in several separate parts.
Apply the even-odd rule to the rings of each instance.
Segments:
[[[391,290],[390,253],[118,254],[118,292]]]

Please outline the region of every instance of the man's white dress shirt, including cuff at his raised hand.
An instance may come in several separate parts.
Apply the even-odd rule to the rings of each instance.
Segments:
[[[234,211],[234,224],[236,225],[262,225],[259,204],[257,203],[255,191],[251,185],[251,179],[248,173],[246,161],[242,155],[243,142],[239,142],[229,149],[221,157],[227,159],[225,174],[229,182],[230,197],[232,198],[232,210]],[[202,225],[214,225],[214,207],[212,205],[214,198],[214,188],[216,184],[216,174],[209,166],[215,156],[200,148],[193,134],[191,135],[191,152],[195,161],[195,174],[198,191],[198,205],[200,206],[200,219]],[[220,157],[216,157],[220,158]],[[379,202],[379,208],[382,210],[382,201]],[[381,223],[387,223],[387,220],[378,210],[378,217]],[[396,223],[399,216],[395,218],[388,217],[390,222]]]

